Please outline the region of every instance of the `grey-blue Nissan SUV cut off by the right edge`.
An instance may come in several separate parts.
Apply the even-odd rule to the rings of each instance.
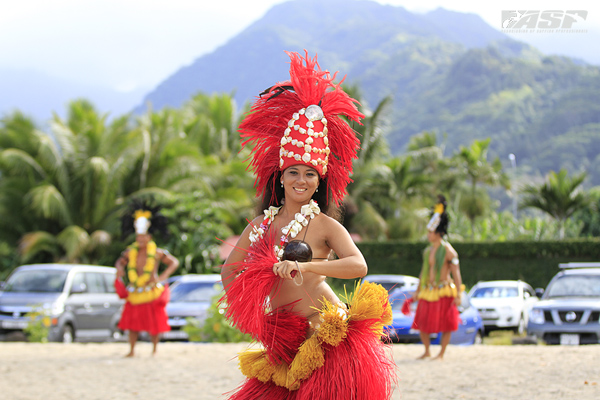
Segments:
[[[546,344],[600,343],[600,262],[560,268],[531,310],[527,333]]]

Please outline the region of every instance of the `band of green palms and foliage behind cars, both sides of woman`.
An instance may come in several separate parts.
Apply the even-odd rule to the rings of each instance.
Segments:
[[[358,88],[347,88],[362,99]],[[366,102],[362,101],[365,104]],[[490,139],[448,153],[448,136],[422,132],[391,156],[391,99],[356,125],[361,140],[344,224],[365,240],[418,240],[435,195],[449,199],[452,239],[542,240],[597,235],[599,196],[588,203],[585,174],[550,173],[523,189],[515,215],[490,193],[511,187]],[[221,241],[255,215],[248,150],[240,147],[242,112],[230,95],[192,97],[180,109],[109,119],[85,100],[42,130],[14,112],[0,122],[0,254],[3,274],[18,263],[71,261],[112,265],[126,244],[120,214],[133,198],[154,198],[170,218],[163,245],[181,273],[214,272]],[[440,142],[440,138],[442,141]],[[511,174],[511,176],[514,176]],[[524,179],[521,176],[521,179]],[[494,189],[496,188],[496,189]],[[496,192],[490,192],[494,189]]]

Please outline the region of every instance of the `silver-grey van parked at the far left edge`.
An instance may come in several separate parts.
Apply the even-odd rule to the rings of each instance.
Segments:
[[[115,293],[115,276],[112,267],[20,266],[0,289],[0,330],[3,334],[23,331],[30,321],[26,314],[41,311],[50,317],[50,341],[116,337],[124,302]]]

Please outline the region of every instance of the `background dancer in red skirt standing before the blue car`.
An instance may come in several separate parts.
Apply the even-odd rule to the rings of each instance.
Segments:
[[[423,268],[413,300],[418,299],[417,312],[412,328],[419,330],[425,353],[420,359],[430,357],[429,345],[432,333],[442,332],[440,353],[435,359],[442,360],[450,343],[452,332],[458,329],[460,317],[457,306],[461,302],[462,278],[458,253],[444,240],[448,233],[446,199],[438,196],[429,223],[427,240],[430,245],[423,252]]]

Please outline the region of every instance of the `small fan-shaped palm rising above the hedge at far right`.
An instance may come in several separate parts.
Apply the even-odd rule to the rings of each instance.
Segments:
[[[565,222],[589,205],[588,196],[581,190],[586,173],[569,177],[566,169],[550,171],[541,185],[526,185],[519,208],[536,208],[554,218],[559,225],[559,238],[565,236]]]

